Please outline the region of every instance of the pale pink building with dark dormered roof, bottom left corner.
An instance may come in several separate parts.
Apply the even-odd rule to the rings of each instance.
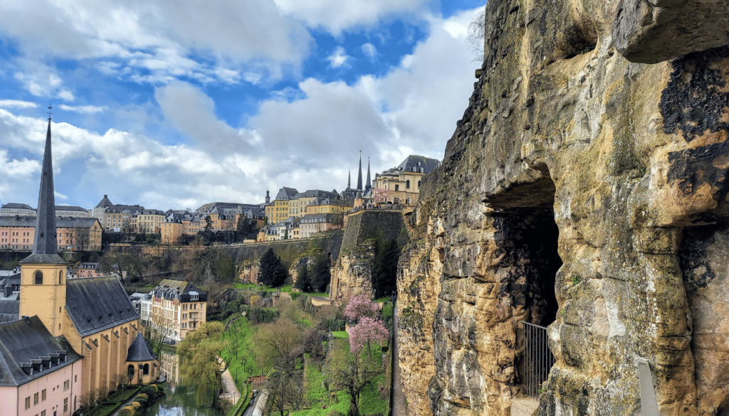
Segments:
[[[0,414],[71,416],[82,395],[82,358],[37,316],[0,323]]]

